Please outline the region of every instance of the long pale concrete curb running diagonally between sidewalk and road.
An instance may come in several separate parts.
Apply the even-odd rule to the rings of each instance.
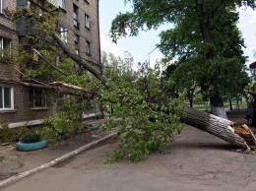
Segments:
[[[41,171],[41,170],[43,170],[43,169],[45,169],[47,167],[56,165],[57,163],[59,163],[61,161],[64,161],[66,159],[70,159],[70,158],[80,154],[81,152],[84,152],[85,150],[88,150],[88,149],[96,146],[97,144],[102,143],[102,142],[112,138],[114,135],[116,135],[116,132],[113,132],[113,133],[111,133],[109,135],[106,135],[106,136],[104,136],[104,137],[102,137],[102,138],[100,138],[100,139],[98,139],[98,140],[96,140],[96,141],[94,141],[94,142],[92,142],[90,144],[87,144],[87,145],[85,145],[83,147],[80,147],[79,149],[74,150],[73,152],[70,152],[68,154],[65,154],[64,156],[61,156],[60,158],[52,159],[51,161],[49,161],[47,163],[44,163],[44,164],[42,164],[40,166],[34,167],[34,168],[30,169],[30,170],[24,171],[22,173],[19,173],[17,175],[14,175],[14,176],[11,176],[11,177],[9,177],[7,179],[4,179],[4,180],[0,181],[0,188],[3,188],[5,186],[7,186],[8,184],[11,184],[14,181],[20,180],[20,179],[25,178],[25,177],[27,177],[29,175],[32,175],[32,174],[34,174],[36,172],[39,172],[39,171]]]

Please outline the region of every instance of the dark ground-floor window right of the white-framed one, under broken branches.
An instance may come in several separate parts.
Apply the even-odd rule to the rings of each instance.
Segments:
[[[30,90],[31,107],[46,107],[46,93],[44,90],[32,89]]]

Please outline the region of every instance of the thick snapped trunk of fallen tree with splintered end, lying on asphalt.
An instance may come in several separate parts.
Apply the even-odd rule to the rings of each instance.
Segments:
[[[247,125],[238,126],[232,121],[189,107],[185,108],[184,122],[215,135],[231,145],[245,150],[254,150],[256,138]]]

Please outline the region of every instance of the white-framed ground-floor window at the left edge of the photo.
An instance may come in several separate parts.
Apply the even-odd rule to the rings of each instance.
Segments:
[[[14,108],[13,88],[0,87],[0,110]]]

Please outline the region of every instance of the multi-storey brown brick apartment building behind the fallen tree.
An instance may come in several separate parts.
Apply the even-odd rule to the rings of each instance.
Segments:
[[[31,34],[24,24],[14,24],[4,9],[15,10],[20,6],[40,6],[45,0],[0,0],[0,48],[24,43],[24,36]],[[50,0],[48,0],[50,1]],[[50,1],[63,12],[58,22],[61,38],[81,57],[94,63],[100,62],[98,1],[53,0]],[[40,123],[56,111],[47,104],[48,87],[24,82],[19,64],[10,66],[0,63],[0,121],[10,127]]]

